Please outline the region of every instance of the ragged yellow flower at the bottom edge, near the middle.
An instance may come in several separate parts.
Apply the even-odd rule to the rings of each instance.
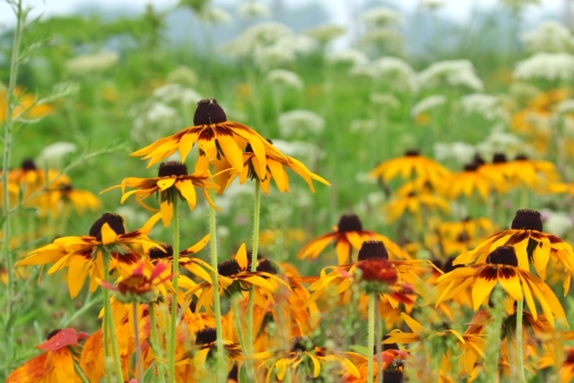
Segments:
[[[267,369],[265,383],[283,381],[288,369],[293,373],[302,372],[304,377],[317,379],[321,375],[321,369],[330,363],[339,365],[339,376],[361,376],[359,370],[349,359],[351,355],[356,355],[356,353],[318,347],[309,337],[304,336],[292,338],[290,343],[291,348],[286,351],[265,351],[253,355],[254,359],[261,362],[258,368]]]

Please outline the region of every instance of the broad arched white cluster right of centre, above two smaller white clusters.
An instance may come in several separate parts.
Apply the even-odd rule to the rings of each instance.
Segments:
[[[483,81],[474,73],[474,66],[468,60],[448,60],[431,64],[418,73],[418,83],[422,89],[449,85],[465,87],[474,91],[483,90]]]

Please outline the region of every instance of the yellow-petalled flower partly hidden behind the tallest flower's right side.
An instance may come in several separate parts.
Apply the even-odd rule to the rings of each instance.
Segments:
[[[271,140],[267,140],[273,145]],[[243,154],[243,171],[239,174],[239,183],[246,183],[248,179],[258,178],[261,181],[261,189],[265,191],[265,194],[269,194],[269,189],[271,187],[271,179],[274,179],[275,185],[279,191],[289,192],[289,174],[287,174],[287,168],[291,169],[293,172],[299,174],[301,178],[309,184],[309,188],[312,192],[315,192],[315,186],[313,185],[313,180],[320,183],[325,183],[326,185],[331,185],[326,179],[312,173],[307,166],[305,166],[298,159],[289,156],[277,156],[273,152],[266,155],[265,168],[261,169],[259,167],[259,162],[257,157],[253,152],[253,148],[248,145]],[[231,173],[227,185],[233,182],[237,173]]]

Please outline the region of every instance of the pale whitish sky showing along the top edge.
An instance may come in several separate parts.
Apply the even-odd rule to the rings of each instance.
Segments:
[[[11,0],[15,1],[15,0]],[[283,0],[283,4],[296,6],[305,4],[308,0]],[[321,0],[328,4],[330,10],[334,14],[335,21],[345,22],[348,21],[349,16],[347,10],[352,2],[355,3],[354,7],[365,2],[365,0]],[[270,4],[270,0],[261,0],[262,3]],[[413,11],[421,0],[399,0],[396,4],[400,4],[404,11]],[[472,17],[472,12],[475,7],[487,8],[498,3],[497,0],[444,0],[445,6],[439,12],[448,14],[458,21],[468,21]],[[525,14],[526,20],[535,17],[542,11],[552,11],[561,14],[562,7],[565,0],[541,0],[542,5],[530,6]],[[43,15],[66,15],[74,13],[74,11],[82,4],[97,4],[100,7],[133,7],[143,12],[145,5],[152,3],[156,9],[169,8],[178,3],[178,0],[23,0],[23,4],[32,7],[31,16]],[[213,0],[214,5],[218,4],[239,4],[240,0]],[[352,7],[352,5],[351,5]],[[15,17],[6,3],[6,0],[0,0],[0,30],[6,26],[11,26],[15,22]]]

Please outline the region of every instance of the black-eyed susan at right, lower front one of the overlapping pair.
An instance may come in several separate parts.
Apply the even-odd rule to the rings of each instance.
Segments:
[[[517,253],[512,246],[498,247],[489,254],[486,263],[455,268],[439,277],[437,283],[437,305],[466,289],[471,289],[474,311],[477,311],[487,302],[494,287],[500,285],[515,301],[526,300],[526,305],[535,319],[538,311],[534,298],[540,303],[552,326],[554,317],[566,321],[561,302],[552,289],[540,277],[518,267]]]

